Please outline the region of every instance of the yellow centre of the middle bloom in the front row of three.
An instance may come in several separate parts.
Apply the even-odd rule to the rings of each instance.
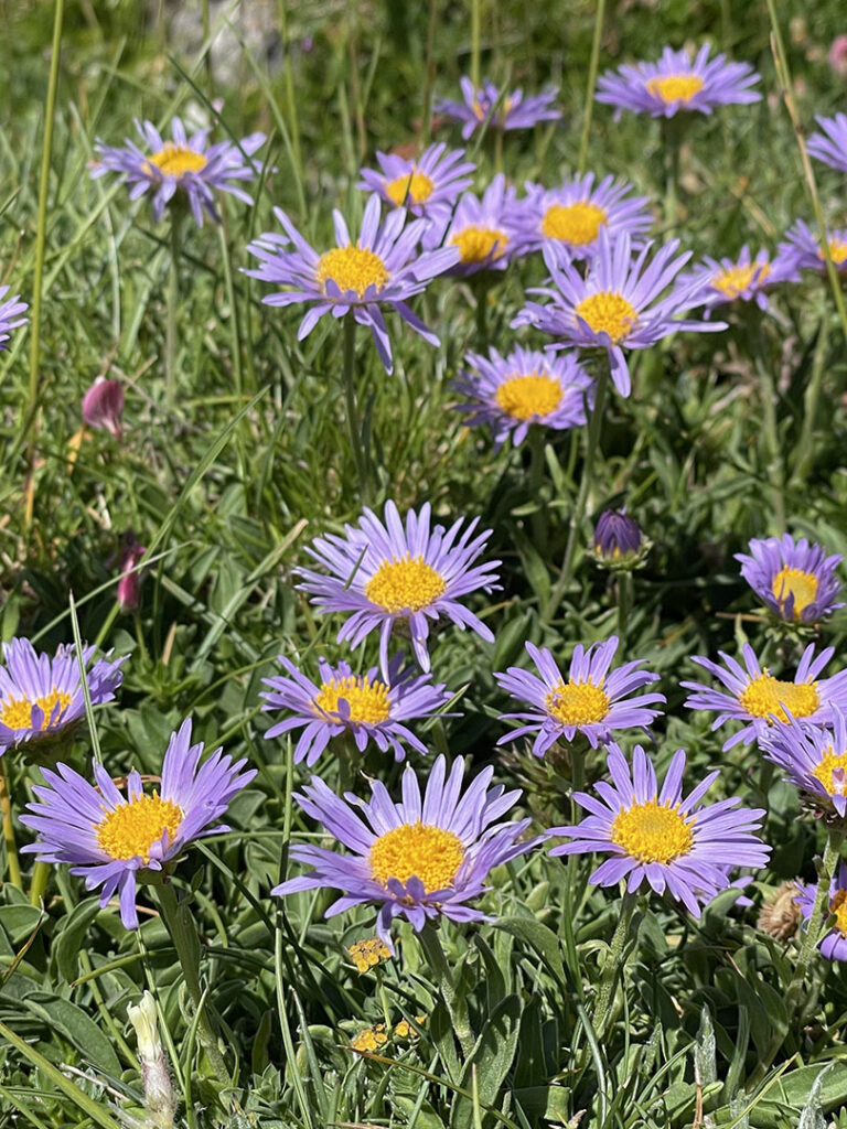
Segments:
[[[388,878],[405,885],[411,877],[418,877],[428,894],[449,889],[463,859],[459,835],[420,820],[379,835],[368,857],[370,874],[383,886]]]

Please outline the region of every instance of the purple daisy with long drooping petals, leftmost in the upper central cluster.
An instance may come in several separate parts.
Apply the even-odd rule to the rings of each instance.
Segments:
[[[439,344],[421,320],[407,305],[420,294],[436,274],[455,265],[455,247],[417,252],[416,246],[429,227],[429,221],[416,219],[407,224],[405,210],[395,208],[384,224],[379,222],[378,196],[365,205],[361,234],[356,243],[340,211],[333,211],[338,246],[318,254],[311,247],[288,216],[274,208],[273,213],[285,228],[285,236],[265,231],[251,243],[247,251],[262,261],[254,271],[246,271],[263,282],[281,286],[278,294],[263,298],[269,306],[306,303],[312,306],[300,322],[297,340],[303,341],[324,314],[343,317],[352,314],[359,325],[367,325],[377,352],[388,373],[392,371],[391,341],[381,306],[390,306],[428,341]],[[294,243],[294,250],[289,248]]]

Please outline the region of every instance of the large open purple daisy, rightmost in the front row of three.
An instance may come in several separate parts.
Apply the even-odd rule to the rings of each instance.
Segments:
[[[612,856],[590,882],[617,886],[626,878],[628,892],[634,893],[646,881],[657,894],[667,890],[699,917],[700,905],[730,885],[732,869],[767,865],[770,847],[754,833],[765,815],[761,808],[733,811],[741,803],[737,798],[702,803],[719,772],[709,772],[683,797],[684,749],[674,753],[661,791],[656,770],[640,745],[632,753],[631,774],[617,745],[609,749],[608,768],[612,782],[597,781],[596,796],[574,793],[591,815],[576,826],[550,829],[551,835],[573,840],[553,847],[551,855]]]

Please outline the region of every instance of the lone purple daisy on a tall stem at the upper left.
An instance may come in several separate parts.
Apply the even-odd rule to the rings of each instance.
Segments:
[[[189,137],[178,117],[171,123],[169,141],[164,140],[152,122],[137,119],[136,129],[143,149],[130,138],[123,148],[96,142],[97,160],[91,165],[91,176],[122,174],[130,185],[130,200],[151,193],[154,219],[161,219],[177,192],[185,194],[199,227],[203,226],[203,213],[219,221],[216,192],[228,192],[246,204],[253,203],[253,198],[239,185],[259,175],[250,158],[264,145],[264,133],[251,133],[237,145],[233,141],[209,145],[211,130],[198,130]]]

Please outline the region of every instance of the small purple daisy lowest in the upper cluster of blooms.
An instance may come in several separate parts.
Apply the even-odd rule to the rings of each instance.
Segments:
[[[585,400],[593,403],[594,382],[573,353],[514,349],[501,357],[491,349],[488,357],[468,353],[475,371],[465,371],[456,380],[459,393],[470,399],[459,404],[474,427],[487,423],[499,449],[513,438],[523,443],[531,425],[565,431],[585,423]]]

